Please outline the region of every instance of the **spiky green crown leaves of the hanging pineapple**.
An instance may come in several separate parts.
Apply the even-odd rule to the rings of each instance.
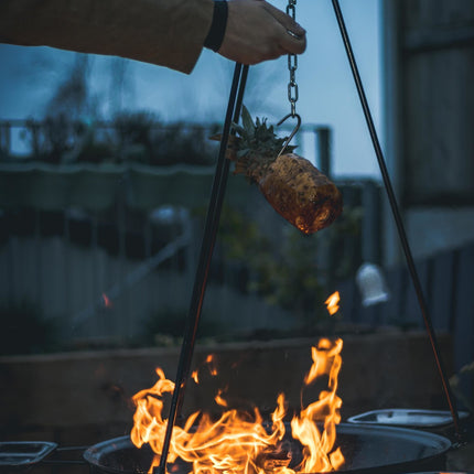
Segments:
[[[277,158],[280,153],[287,138],[278,138],[274,133],[273,126],[267,127],[267,119],[256,118],[254,120],[247,109],[243,106],[241,122],[233,123],[234,129],[239,136],[237,158],[243,158],[249,152],[260,154],[262,157]],[[292,152],[297,147],[288,146],[287,152]]]

